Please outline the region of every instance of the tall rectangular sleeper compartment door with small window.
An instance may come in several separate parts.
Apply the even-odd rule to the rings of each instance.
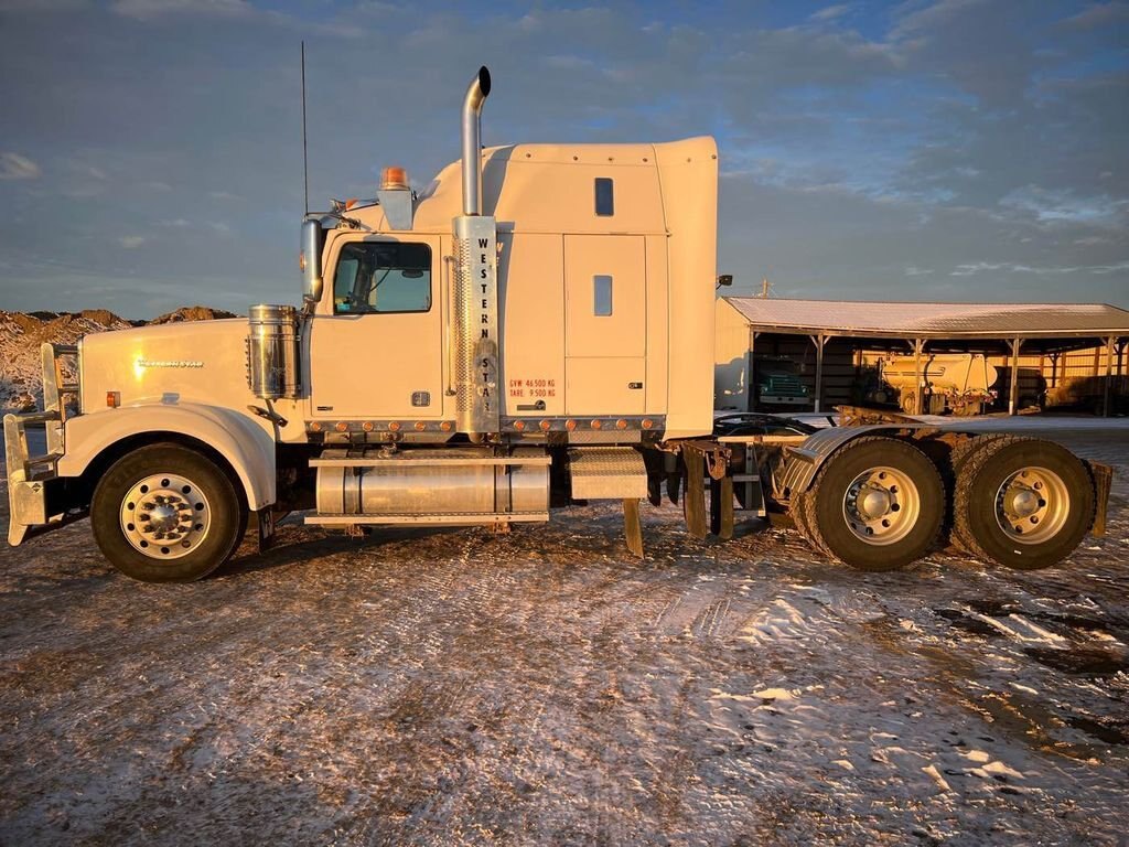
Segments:
[[[568,414],[642,414],[647,265],[642,236],[564,236]]]

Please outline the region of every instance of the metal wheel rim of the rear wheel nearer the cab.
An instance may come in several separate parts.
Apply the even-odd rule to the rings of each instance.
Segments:
[[[868,544],[904,539],[917,523],[921,498],[909,474],[896,468],[869,468],[858,474],[843,496],[843,519]]]

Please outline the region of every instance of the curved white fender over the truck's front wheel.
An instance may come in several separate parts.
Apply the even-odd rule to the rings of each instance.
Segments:
[[[185,435],[215,449],[238,477],[251,510],[275,501],[272,435],[246,414],[202,403],[132,405],[69,419],[59,475],[79,477],[108,447],[146,433]]]

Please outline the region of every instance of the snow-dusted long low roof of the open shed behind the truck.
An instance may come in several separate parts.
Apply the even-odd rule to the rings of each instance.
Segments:
[[[724,298],[765,332],[922,339],[1129,335],[1129,311],[1104,303],[861,303]]]

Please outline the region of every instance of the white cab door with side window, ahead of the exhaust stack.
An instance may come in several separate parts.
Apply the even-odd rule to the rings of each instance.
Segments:
[[[309,341],[315,418],[443,417],[439,236],[340,242]]]

